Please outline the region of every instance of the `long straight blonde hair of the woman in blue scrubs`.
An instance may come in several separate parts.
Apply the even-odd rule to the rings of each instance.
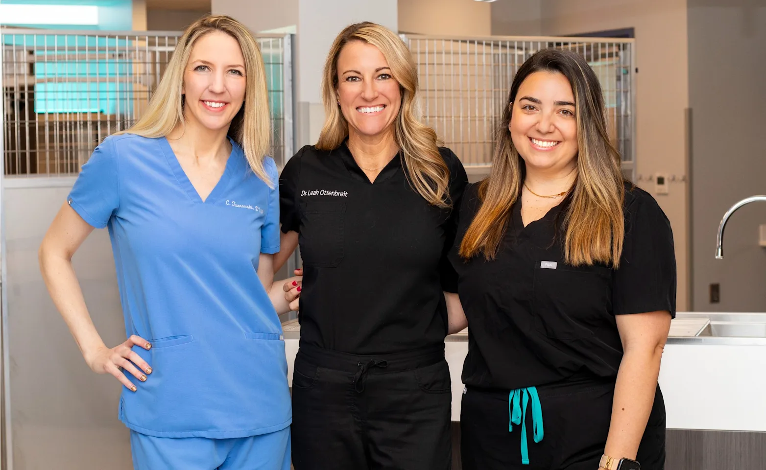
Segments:
[[[241,145],[250,168],[258,178],[273,187],[274,181],[270,181],[264,168],[264,155],[269,150],[271,139],[264,59],[253,35],[234,18],[206,15],[186,28],[146,111],[132,127],[116,134],[129,132],[144,137],[165,137],[184,124],[184,100],[181,94],[184,70],[195,42],[213,31],[221,31],[236,39],[244,57],[245,100],[231,120],[228,135]]]

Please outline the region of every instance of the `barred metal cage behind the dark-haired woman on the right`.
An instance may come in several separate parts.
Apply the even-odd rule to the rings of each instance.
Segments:
[[[402,34],[417,64],[424,121],[466,166],[491,165],[495,132],[516,71],[546,47],[582,54],[607,105],[609,133],[628,178],[635,171],[633,39],[434,37]]]

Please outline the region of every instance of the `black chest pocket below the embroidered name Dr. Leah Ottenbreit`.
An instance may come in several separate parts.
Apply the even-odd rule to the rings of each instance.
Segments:
[[[343,260],[344,201],[302,204],[300,256],[305,266],[335,268]]]

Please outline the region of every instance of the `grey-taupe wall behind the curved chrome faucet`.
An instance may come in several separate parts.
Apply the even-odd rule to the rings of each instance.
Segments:
[[[724,259],[713,256],[728,207],[766,193],[766,2],[689,0],[689,77],[694,309],[766,312],[766,250],[758,246],[766,204],[737,211]],[[720,284],[720,303],[710,303],[711,283]]]

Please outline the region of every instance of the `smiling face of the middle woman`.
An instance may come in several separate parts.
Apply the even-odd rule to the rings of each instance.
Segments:
[[[340,51],[336,71],[336,96],[349,123],[349,136],[375,137],[393,132],[401,107],[401,90],[380,49],[350,41]]]

